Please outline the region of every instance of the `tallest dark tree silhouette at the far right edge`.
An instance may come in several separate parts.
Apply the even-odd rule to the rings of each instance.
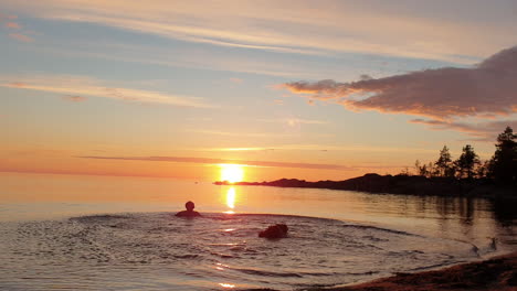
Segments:
[[[490,160],[490,174],[502,184],[517,184],[517,138],[510,127],[497,137],[496,151]]]

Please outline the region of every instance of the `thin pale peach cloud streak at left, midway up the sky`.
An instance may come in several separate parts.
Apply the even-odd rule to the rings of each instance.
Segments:
[[[0,76],[0,87],[51,91],[70,96],[93,96],[126,101],[167,104],[182,107],[213,107],[199,97],[106,86],[95,78],[83,76],[43,76],[23,79],[20,77]]]

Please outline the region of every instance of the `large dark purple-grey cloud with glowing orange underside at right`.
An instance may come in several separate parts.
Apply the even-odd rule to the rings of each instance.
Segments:
[[[350,110],[377,110],[446,120],[517,112],[517,46],[472,68],[443,67],[384,78],[337,83],[293,82],[282,86]]]

